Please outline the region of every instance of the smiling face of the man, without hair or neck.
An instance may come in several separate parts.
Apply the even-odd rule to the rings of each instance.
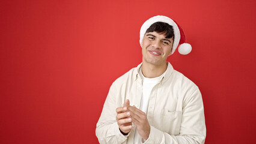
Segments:
[[[173,37],[165,38],[165,32],[147,32],[142,40],[142,62],[153,65],[166,64],[167,57],[171,54]]]

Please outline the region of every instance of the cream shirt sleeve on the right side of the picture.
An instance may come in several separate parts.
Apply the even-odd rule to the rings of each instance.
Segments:
[[[173,136],[150,126],[150,136],[144,143],[203,144],[205,139],[204,106],[201,92],[197,88],[189,97],[184,98],[180,134]]]

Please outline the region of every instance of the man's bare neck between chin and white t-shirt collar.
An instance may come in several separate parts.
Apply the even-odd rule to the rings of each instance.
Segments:
[[[144,77],[154,78],[159,77],[165,73],[168,63],[163,65],[152,65],[147,62],[142,62],[141,71]]]

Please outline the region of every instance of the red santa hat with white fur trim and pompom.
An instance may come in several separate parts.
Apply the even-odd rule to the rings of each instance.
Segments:
[[[170,19],[166,16],[154,16],[148,19],[143,25],[141,26],[141,31],[139,32],[139,43],[142,43],[144,35],[147,29],[155,22],[165,22],[172,26],[174,29],[174,43],[172,46],[172,53],[174,53],[175,49],[178,47],[178,52],[182,55],[187,55],[191,52],[192,47],[190,44],[186,43],[186,38],[184,35],[183,30],[181,27],[174,22],[174,20]],[[178,46],[180,44],[180,46]]]

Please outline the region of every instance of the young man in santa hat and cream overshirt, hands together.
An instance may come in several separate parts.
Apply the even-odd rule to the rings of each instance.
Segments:
[[[142,64],[112,83],[96,136],[100,143],[204,143],[201,93],[166,59],[191,46],[172,19],[154,16],[141,27]]]

